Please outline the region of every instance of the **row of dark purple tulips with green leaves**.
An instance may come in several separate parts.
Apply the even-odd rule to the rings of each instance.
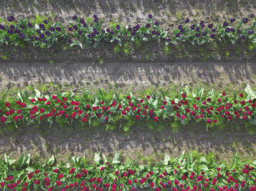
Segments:
[[[44,20],[42,23],[30,22],[28,19],[16,20],[9,16],[7,24],[0,25],[0,45],[22,45],[24,42],[34,46],[47,47],[59,43],[67,45],[79,45],[82,49],[86,45],[96,47],[102,42],[113,42],[122,45],[125,41],[142,42],[165,39],[166,45],[177,42],[191,42],[203,44],[214,40],[228,40],[233,44],[237,40],[256,42],[254,14],[245,18],[230,18],[223,23],[200,23],[189,24],[190,19],[186,18],[185,23],[180,24],[172,32],[167,32],[165,28],[159,27],[159,21],[153,21],[152,15],[148,15],[145,25],[122,26],[115,23],[108,28],[102,28],[100,19],[93,15],[94,22],[85,22],[84,18],[72,17],[75,23],[69,23],[67,27],[60,22],[49,22]]]

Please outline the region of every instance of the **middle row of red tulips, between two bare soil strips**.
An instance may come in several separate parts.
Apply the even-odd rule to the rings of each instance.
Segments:
[[[200,87],[192,92],[187,86],[182,87],[176,96],[169,98],[162,92],[154,92],[145,95],[144,98],[136,98],[129,95],[116,95],[109,99],[103,89],[98,89],[97,95],[90,92],[74,95],[70,92],[58,92],[54,95],[42,95],[35,89],[32,95],[24,90],[19,92],[12,102],[5,101],[3,95],[0,101],[0,120],[2,123],[20,122],[26,124],[54,121],[73,122],[82,124],[92,120],[99,122],[111,122],[118,119],[152,120],[179,119],[183,124],[193,120],[206,122],[208,126],[214,126],[221,122],[229,122],[233,119],[249,121],[256,125],[255,106],[256,93],[250,85],[244,89],[244,93],[237,95],[230,93],[217,93],[211,89],[207,95]],[[247,95],[247,96],[245,96]]]

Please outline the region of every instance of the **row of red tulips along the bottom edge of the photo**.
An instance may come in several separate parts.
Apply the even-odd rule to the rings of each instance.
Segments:
[[[173,190],[173,191],[241,191],[256,190],[256,161],[215,163],[214,159],[193,159],[184,152],[176,159],[165,155],[155,166],[121,163],[119,154],[108,162],[104,154],[95,153],[94,163],[73,156],[71,163],[55,163],[54,156],[44,164],[30,164],[30,155],[0,160],[0,190]]]

